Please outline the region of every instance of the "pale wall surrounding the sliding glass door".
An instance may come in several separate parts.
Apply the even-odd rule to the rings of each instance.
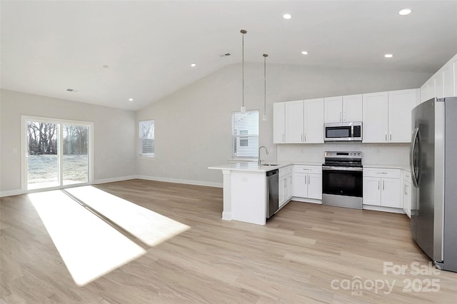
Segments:
[[[0,91],[0,193],[21,189],[21,115],[94,122],[94,180],[136,175],[134,111]],[[17,149],[17,153],[14,153]]]

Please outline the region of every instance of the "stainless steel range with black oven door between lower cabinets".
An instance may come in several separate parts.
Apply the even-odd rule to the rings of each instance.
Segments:
[[[326,151],[322,164],[322,204],[362,208],[363,166],[361,151]]]

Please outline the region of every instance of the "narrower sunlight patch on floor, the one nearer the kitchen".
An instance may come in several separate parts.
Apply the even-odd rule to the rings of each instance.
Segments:
[[[92,186],[65,190],[149,246],[173,238],[190,227]]]

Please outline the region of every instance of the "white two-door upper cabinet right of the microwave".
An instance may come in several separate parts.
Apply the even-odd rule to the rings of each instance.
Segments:
[[[389,91],[363,94],[363,143],[411,142],[411,110],[419,91]]]

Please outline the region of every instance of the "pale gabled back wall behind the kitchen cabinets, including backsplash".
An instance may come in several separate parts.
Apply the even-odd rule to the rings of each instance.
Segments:
[[[267,64],[268,121],[260,118],[260,145],[270,151],[262,159],[323,161],[323,151],[343,146],[273,144],[272,103],[304,98],[418,88],[428,73],[323,69]],[[245,103],[263,114],[263,64],[245,64]],[[136,114],[137,120],[156,121],[156,157],[139,160],[139,175],[169,181],[220,184],[220,171],[208,166],[231,158],[231,112],[241,106],[241,66],[227,66]],[[318,126],[321,128],[321,126]],[[365,163],[407,166],[408,145],[363,145]],[[384,148],[388,154],[384,155]],[[350,148],[345,148],[349,150]],[[343,148],[344,150],[344,148]],[[293,158],[293,159],[291,159]]]

